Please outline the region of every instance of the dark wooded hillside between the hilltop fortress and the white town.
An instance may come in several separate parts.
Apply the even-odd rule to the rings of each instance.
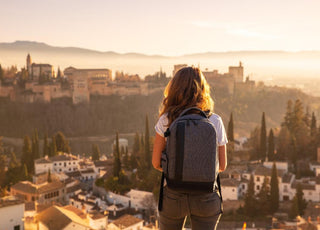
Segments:
[[[236,135],[246,135],[260,124],[266,113],[267,128],[279,127],[289,99],[300,99],[309,111],[320,114],[320,98],[299,90],[260,86],[236,92],[233,96],[213,87],[215,112],[227,126],[233,112]],[[145,115],[150,127],[157,120],[162,94],[149,96],[94,96],[90,104],[73,105],[70,99],[55,100],[51,104],[24,104],[0,101],[0,135],[21,138],[34,128],[40,135],[51,136],[62,131],[67,137],[108,136],[120,133],[144,132]]]

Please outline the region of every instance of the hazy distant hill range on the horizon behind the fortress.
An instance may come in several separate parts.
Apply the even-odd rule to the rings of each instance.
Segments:
[[[277,77],[318,77],[320,75],[320,51],[229,51],[186,54],[183,56],[145,55],[140,53],[101,52],[77,47],[55,47],[41,42],[16,41],[0,43],[0,64],[2,66],[25,66],[30,53],[36,63],[50,63],[55,69],[68,66],[77,68],[109,68],[141,77],[159,71],[172,74],[173,65],[186,63],[200,65],[201,69],[218,69],[227,72],[228,66],[242,61],[245,75],[264,80]]]

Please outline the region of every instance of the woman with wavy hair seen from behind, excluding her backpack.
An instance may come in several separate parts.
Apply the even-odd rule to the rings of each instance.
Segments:
[[[164,100],[160,109],[160,117],[155,126],[152,164],[162,171],[161,153],[166,146],[164,133],[179,114],[189,107],[198,107],[206,111],[214,124],[218,139],[219,172],[227,166],[227,137],[221,118],[213,113],[213,100],[210,87],[199,68],[186,67],[180,69],[167,85]],[[186,216],[189,215],[193,230],[216,229],[221,216],[220,194],[183,193],[167,186],[163,190],[163,208],[160,211],[160,229],[182,229]]]

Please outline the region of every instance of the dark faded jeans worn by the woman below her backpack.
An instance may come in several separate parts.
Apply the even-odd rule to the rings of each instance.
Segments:
[[[221,216],[218,192],[180,193],[163,188],[163,207],[160,211],[160,230],[180,230],[186,216],[191,219],[192,230],[216,229]]]

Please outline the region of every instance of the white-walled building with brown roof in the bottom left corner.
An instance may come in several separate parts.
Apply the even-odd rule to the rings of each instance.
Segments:
[[[0,199],[0,224],[1,229],[24,229],[24,202],[14,196]]]

